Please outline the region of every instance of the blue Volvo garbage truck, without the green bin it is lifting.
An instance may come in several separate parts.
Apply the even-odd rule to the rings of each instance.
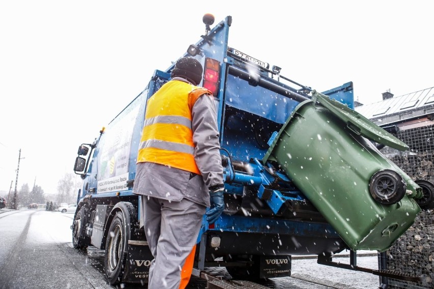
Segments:
[[[214,224],[203,219],[194,272],[226,266],[238,278],[289,276],[291,255],[332,255],[348,248],[291,179],[262,161],[273,133],[310,98],[311,88],[229,47],[231,16],[212,29],[207,19],[206,34],[181,57],[203,64],[201,85],[214,94],[226,209]],[[105,274],[112,284],[147,282],[152,256],[140,220],[140,197],[132,189],[146,102],[170,80],[172,68],[155,70],[144,91],[95,141],[80,146],[75,161],[83,188],[71,226],[73,244],[105,249]],[[323,94],[354,108],[352,82]]]

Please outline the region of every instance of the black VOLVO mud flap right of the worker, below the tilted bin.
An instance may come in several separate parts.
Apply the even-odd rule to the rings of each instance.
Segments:
[[[291,276],[291,256],[271,255],[261,256],[259,262],[259,277],[273,278]]]

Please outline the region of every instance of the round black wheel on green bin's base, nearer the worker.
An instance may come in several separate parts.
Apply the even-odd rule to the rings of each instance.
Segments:
[[[398,203],[405,195],[406,187],[402,177],[390,169],[377,171],[369,182],[371,196],[383,205]]]

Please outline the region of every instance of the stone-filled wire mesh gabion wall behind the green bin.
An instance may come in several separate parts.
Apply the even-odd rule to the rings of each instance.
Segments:
[[[401,152],[385,147],[381,152],[413,180],[434,182],[434,128],[411,128],[395,134],[410,147]],[[386,252],[387,269],[422,276],[422,282],[389,278],[388,288],[434,289],[434,210],[424,209],[416,221]]]

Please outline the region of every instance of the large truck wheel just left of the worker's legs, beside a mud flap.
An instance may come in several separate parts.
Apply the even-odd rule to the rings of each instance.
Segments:
[[[117,212],[108,230],[104,268],[107,281],[111,285],[122,281],[127,256],[126,244],[130,237],[129,223],[122,212]]]

